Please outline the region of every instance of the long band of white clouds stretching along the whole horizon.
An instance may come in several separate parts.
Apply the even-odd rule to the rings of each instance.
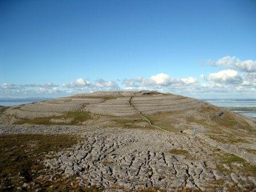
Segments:
[[[166,73],[151,77],[125,78],[121,82],[98,79],[94,82],[78,78],[73,82],[55,85],[9,84],[0,86],[0,96],[7,95],[72,95],[93,91],[111,90],[157,90],[183,95],[247,94],[256,95],[256,61],[241,61],[237,57],[226,56],[217,61],[207,61],[207,65],[218,69],[215,73],[201,74],[200,77],[174,78]],[[203,97],[203,96],[202,96]]]

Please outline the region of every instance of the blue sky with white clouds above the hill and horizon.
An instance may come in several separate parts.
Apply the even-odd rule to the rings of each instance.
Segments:
[[[256,95],[256,1],[1,1],[0,31],[0,97]]]

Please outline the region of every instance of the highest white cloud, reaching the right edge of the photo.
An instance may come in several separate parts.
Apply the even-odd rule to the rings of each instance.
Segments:
[[[213,66],[225,66],[247,73],[256,72],[256,61],[253,60],[242,61],[237,57],[226,56],[218,59],[218,61],[209,61],[209,63]]]

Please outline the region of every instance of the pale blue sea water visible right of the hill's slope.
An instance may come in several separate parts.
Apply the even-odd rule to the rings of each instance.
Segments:
[[[234,112],[256,118],[256,99],[201,99],[218,107],[229,107]],[[241,110],[239,110],[239,108]],[[246,111],[244,109],[247,109]]]

